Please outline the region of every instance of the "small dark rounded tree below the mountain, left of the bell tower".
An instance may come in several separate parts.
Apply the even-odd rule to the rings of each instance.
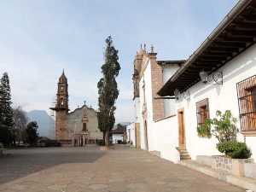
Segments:
[[[26,143],[36,146],[38,141],[38,122],[32,121],[26,125]]]

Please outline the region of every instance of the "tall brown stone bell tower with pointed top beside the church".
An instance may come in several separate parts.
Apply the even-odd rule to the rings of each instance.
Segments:
[[[58,83],[57,102],[55,108],[50,108],[56,112],[56,128],[55,139],[67,139],[67,112],[68,112],[68,92],[67,92],[67,77],[64,69]]]

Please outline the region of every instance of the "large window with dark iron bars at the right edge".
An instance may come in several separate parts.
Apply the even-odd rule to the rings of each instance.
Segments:
[[[256,75],[236,84],[241,131],[256,131]]]

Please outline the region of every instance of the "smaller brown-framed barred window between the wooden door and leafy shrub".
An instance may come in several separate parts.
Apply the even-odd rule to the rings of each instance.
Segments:
[[[197,126],[205,124],[206,119],[209,118],[209,102],[208,99],[196,102],[196,116],[197,116]]]

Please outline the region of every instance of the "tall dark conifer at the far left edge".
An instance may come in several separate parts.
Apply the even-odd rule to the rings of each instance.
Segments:
[[[3,73],[3,77],[0,82],[0,129],[2,134],[0,140],[3,143],[9,143],[10,130],[14,125],[13,110],[11,108],[11,94],[9,86],[8,73]]]

